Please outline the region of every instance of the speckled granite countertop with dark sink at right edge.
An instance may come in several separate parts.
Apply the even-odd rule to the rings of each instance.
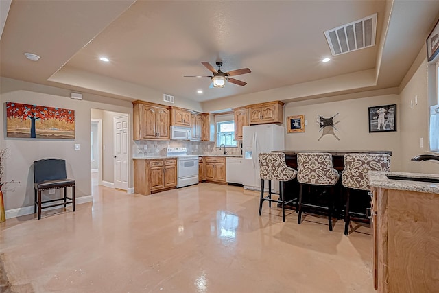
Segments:
[[[439,180],[439,174],[424,174],[424,173],[405,173],[405,172],[379,172],[369,171],[370,187],[381,187],[385,189],[397,189],[407,191],[426,192],[430,194],[439,194],[439,183],[423,182],[416,180],[395,180],[389,179],[389,176],[402,176],[410,178],[431,178]]]

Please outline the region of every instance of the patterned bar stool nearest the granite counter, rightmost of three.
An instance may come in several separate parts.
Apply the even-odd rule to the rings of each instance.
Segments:
[[[344,235],[348,235],[351,222],[349,211],[349,198],[351,189],[370,192],[369,171],[389,171],[390,155],[388,154],[345,154],[344,169],[342,172],[342,185],[346,191],[346,209],[344,213]],[[369,201],[370,203],[370,201]],[[361,218],[366,218],[367,213],[355,213]]]

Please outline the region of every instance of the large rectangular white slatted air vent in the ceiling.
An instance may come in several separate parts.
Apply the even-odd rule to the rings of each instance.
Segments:
[[[375,45],[377,32],[377,14],[353,21],[332,30],[327,30],[327,37],[332,56],[372,47]]]

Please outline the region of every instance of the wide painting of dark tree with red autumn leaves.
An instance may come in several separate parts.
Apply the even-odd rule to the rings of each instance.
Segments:
[[[75,139],[75,110],[6,102],[7,137]]]

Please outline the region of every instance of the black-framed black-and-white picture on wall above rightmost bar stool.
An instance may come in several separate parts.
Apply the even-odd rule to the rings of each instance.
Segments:
[[[396,131],[396,105],[369,107],[369,132]]]

